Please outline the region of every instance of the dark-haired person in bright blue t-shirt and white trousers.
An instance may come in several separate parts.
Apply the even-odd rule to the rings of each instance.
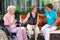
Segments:
[[[40,16],[46,16],[47,18],[47,24],[45,24],[41,31],[44,35],[45,40],[50,40],[50,32],[55,31],[57,29],[57,19],[58,15],[53,10],[53,5],[48,4],[46,6],[45,14],[40,14]]]

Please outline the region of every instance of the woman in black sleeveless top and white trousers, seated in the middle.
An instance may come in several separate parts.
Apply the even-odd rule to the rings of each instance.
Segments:
[[[25,20],[23,21],[24,23],[28,23],[27,28],[28,28],[28,36],[31,39],[31,31],[32,29],[35,29],[35,40],[37,38],[37,33],[38,33],[38,23],[39,23],[39,16],[37,13],[37,7],[33,6],[31,9],[31,12],[29,12],[27,14],[27,17],[25,18]]]

